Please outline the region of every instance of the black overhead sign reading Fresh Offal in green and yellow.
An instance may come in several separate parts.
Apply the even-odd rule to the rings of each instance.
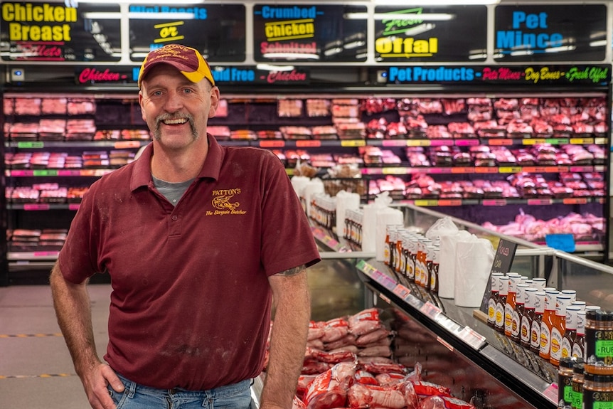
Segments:
[[[379,63],[484,61],[486,6],[375,8]]]

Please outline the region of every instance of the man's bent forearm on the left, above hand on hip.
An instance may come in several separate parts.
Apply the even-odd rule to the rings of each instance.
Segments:
[[[75,371],[81,375],[100,363],[92,329],[90,298],[85,283],[75,285],[64,280],[58,265],[50,275],[53,307]]]

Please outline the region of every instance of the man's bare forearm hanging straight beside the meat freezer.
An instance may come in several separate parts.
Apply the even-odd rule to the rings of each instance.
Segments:
[[[270,359],[260,402],[262,408],[292,408],[311,318],[306,274],[302,271],[296,277],[281,279],[286,282],[286,291],[274,302],[276,309],[270,334]]]

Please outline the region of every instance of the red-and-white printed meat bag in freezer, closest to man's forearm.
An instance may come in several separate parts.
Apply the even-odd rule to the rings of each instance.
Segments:
[[[342,408],[356,374],[356,363],[341,362],[318,375],[307,388],[304,403],[308,409]]]

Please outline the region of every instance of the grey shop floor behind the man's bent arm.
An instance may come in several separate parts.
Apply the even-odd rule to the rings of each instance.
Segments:
[[[110,285],[90,285],[98,354]],[[0,287],[0,409],[90,408],[55,320],[48,285]]]

